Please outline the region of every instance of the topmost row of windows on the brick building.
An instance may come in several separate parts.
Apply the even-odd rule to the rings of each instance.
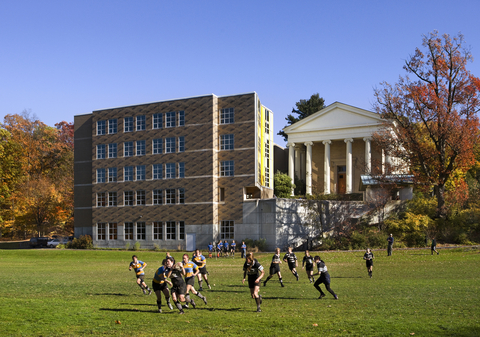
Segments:
[[[232,124],[235,122],[235,109],[226,108],[220,110],[220,124]],[[123,132],[146,130],[147,117],[145,115],[123,118]],[[185,111],[170,111],[152,115],[152,129],[173,128],[185,126]],[[115,134],[118,132],[118,119],[97,121],[97,135]]]

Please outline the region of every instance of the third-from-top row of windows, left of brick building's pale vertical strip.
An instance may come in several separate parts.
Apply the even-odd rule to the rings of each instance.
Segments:
[[[152,179],[175,179],[185,178],[185,163],[167,163],[152,165]],[[146,165],[124,166],[123,181],[146,180]],[[97,183],[113,183],[118,181],[118,170],[116,167],[97,169]]]

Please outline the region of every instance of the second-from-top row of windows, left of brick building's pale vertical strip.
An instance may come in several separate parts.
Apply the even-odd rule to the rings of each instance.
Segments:
[[[108,149],[108,153],[107,153]],[[137,140],[123,143],[123,156],[145,156],[146,142],[144,140]],[[165,152],[164,152],[165,151]],[[152,140],[152,154],[185,152],[185,137],[178,137],[178,142],[175,137],[162,138]],[[98,144],[97,145],[97,159],[117,158],[118,146],[117,143]]]

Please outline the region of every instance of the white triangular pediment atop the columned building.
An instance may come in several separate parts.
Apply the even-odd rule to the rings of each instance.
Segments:
[[[323,130],[355,129],[379,125],[380,122],[380,116],[374,112],[335,102],[283,130],[288,135]]]

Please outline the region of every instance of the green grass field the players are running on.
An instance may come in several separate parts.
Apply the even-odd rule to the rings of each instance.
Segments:
[[[155,295],[143,295],[128,271],[132,252],[0,253],[0,336],[480,336],[475,248],[441,250],[438,256],[429,250],[398,250],[391,257],[374,252],[372,279],[363,252],[321,253],[338,301],[329,293],[318,300],[301,267],[297,282],[284,263],[285,287],[277,277],[261,287],[261,313],[241,283],[239,254],[208,259],[215,284],[203,291],[208,306],[198,299],[197,309],[185,315],[166,306],[163,314],[156,312]],[[148,264],[150,286],[165,253],[136,254]],[[301,262],[303,253],[296,254]],[[172,255],[179,261],[182,253]],[[267,274],[271,256],[256,256]]]

